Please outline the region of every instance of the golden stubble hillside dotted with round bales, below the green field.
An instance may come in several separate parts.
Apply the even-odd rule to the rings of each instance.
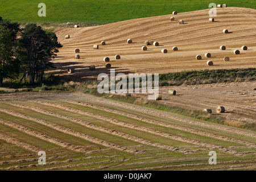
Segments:
[[[110,57],[109,63],[116,73],[126,74],[255,67],[256,10],[240,7],[217,9],[216,22],[209,22],[208,11],[133,19],[96,27],[59,28],[56,34],[64,47],[53,61],[57,68],[49,72],[85,81],[99,73],[109,73],[103,61],[106,56]],[[170,21],[171,16],[175,16],[174,21]],[[185,24],[179,24],[180,19]],[[229,34],[222,32],[225,28]],[[67,34],[70,39],[64,38]],[[133,43],[127,44],[129,38]],[[106,46],[93,49],[93,45],[100,45],[102,40]],[[142,51],[146,40],[154,40],[160,45],[147,46],[148,50]],[[222,45],[226,46],[225,51],[219,49]],[[248,47],[247,51],[241,50],[243,45]],[[172,51],[173,46],[177,46],[179,51]],[[74,58],[75,48],[80,48],[79,60]],[[161,53],[163,48],[168,53]],[[234,55],[234,49],[239,49],[241,54]],[[207,52],[212,57],[205,58]],[[120,60],[114,59],[117,54],[121,56]],[[198,54],[202,60],[196,60]],[[223,61],[225,56],[229,56],[230,61]],[[212,67],[207,65],[208,60],[213,61]],[[93,64],[96,70],[89,71],[89,65]],[[68,75],[68,68],[75,68],[76,72]]]

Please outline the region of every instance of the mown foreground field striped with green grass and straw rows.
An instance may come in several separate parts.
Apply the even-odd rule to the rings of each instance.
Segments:
[[[185,95],[181,87],[172,89],[179,91],[172,100]],[[254,131],[79,93],[1,94],[0,102],[0,144],[5,146],[0,148],[1,170],[255,166]],[[37,161],[40,150],[46,151],[44,166]],[[214,166],[208,164],[212,150],[217,152]]]

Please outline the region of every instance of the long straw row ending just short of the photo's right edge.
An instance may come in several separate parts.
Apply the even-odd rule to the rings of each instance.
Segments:
[[[139,130],[139,131],[146,131],[147,133],[156,134],[156,135],[159,135],[161,137],[166,137],[166,138],[171,138],[171,139],[175,139],[175,140],[180,140],[182,142],[187,142],[187,143],[199,144],[201,146],[210,147],[210,148],[216,148],[216,149],[224,151],[224,152],[229,152],[230,154],[241,155],[240,152],[237,152],[237,151],[234,151],[234,150],[230,150],[230,149],[225,148],[225,147],[220,147],[220,146],[216,146],[214,144],[208,144],[208,143],[199,142],[199,141],[191,140],[191,139],[187,139],[187,138],[185,139],[185,138],[176,137],[176,136],[174,137],[174,136],[172,136],[170,134],[166,134],[166,133],[163,133],[163,132],[158,131],[158,130],[152,130],[152,129],[147,129],[146,127],[131,125],[131,124],[128,124],[128,123],[124,123],[124,122],[118,121],[117,119],[105,117],[105,116],[98,115],[98,114],[92,114],[92,113],[89,113],[89,112],[86,112],[86,111],[82,111],[82,110],[79,110],[79,109],[74,109],[72,107],[67,107],[67,106],[59,105],[59,104],[52,104],[50,102],[42,102],[42,101],[34,101],[34,102],[37,102],[37,103],[43,104],[43,105],[47,105],[47,106],[54,106],[54,107],[57,107],[57,108],[60,108],[60,109],[64,109],[64,110],[67,110],[67,111],[72,111],[73,113],[79,113],[79,114],[82,114],[82,115],[87,115],[87,116],[90,116],[90,117],[102,119],[104,121],[108,121],[110,123],[114,123],[115,125],[129,127],[131,129],[135,129],[135,130]],[[158,125],[158,122],[148,122],[148,123],[153,123],[153,124],[157,124]],[[115,131],[115,132],[117,132],[117,131]],[[177,151],[177,150],[180,150],[180,148],[175,147],[174,150]],[[189,152],[189,151],[187,151],[187,152]]]

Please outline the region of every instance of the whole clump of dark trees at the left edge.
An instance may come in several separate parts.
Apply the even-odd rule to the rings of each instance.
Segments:
[[[16,79],[20,73],[20,83],[24,78],[26,84],[27,77],[31,85],[42,82],[44,71],[53,67],[51,59],[63,47],[55,32],[34,23],[19,27],[19,23],[0,16],[0,87],[4,78]]]

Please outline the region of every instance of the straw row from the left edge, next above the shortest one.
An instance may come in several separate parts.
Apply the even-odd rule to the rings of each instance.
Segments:
[[[28,129],[27,127],[24,127],[22,125],[18,125],[16,123],[13,123],[13,122],[10,122],[10,121],[5,121],[3,119],[0,119],[0,123],[2,123],[3,125],[6,125],[6,126],[13,127],[13,128],[15,128],[19,131],[23,131],[26,134],[29,134],[29,135],[32,135],[34,137],[40,138],[42,140],[46,140],[47,142],[57,144],[58,146],[61,146],[61,147],[64,147],[64,148],[68,148],[69,150],[72,150],[72,151],[84,152],[84,153],[88,152],[88,150],[85,150],[84,148],[81,148],[79,146],[74,146],[73,144],[63,142],[63,141],[61,141],[59,139],[56,139],[56,138],[49,137],[46,134],[38,133],[36,131]]]

